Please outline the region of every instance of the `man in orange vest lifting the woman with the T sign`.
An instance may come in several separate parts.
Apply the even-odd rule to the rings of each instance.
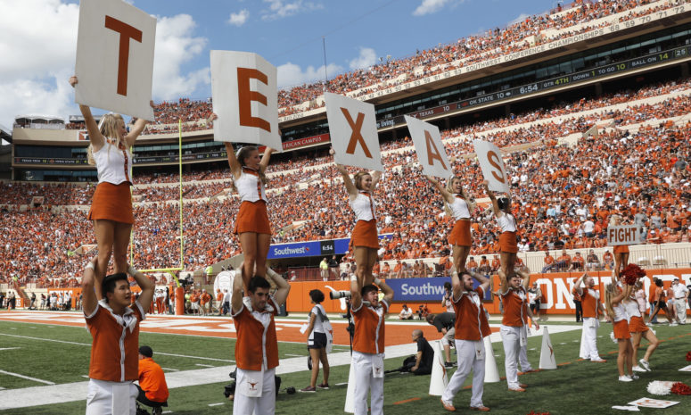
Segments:
[[[137,347],[139,322],[152,303],[154,284],[131,265],[128,274],[142,289],[139,299],[131,302],[128,274],[111,274],[103,279],[95,273],[97,258],[86,264],[82,277],[82,307],[86,328],[94,341],[89,360],[89,385],[86,415],[110,415],[136,412]],[[96,298],[95,286],[101,286],[103,299]]]

